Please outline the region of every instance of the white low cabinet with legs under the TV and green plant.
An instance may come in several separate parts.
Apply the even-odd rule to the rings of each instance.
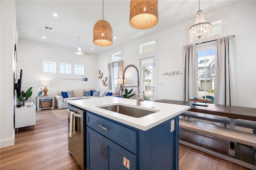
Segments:
[[[27,107],[30,106],[30,107]],[[15,107],[15,128],[19,133],[19,127],[31,126],[36,124],[36,106],[33,102],[26,102],[25,106]]]

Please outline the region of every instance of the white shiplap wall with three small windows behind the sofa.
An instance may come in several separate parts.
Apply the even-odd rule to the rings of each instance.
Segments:
[[[36,104],[36,96],[41,91],[42,81],[50,81],[48,88],[48,96],[53,96],[60,91],[73,89],[94,89],[97,88],[96,81],[98,78],[97,72],[97,57],[95,55],[77,55],[76,53],[67,53],[74,51],[44,43],[18,39],[17,44],[17,65],[18,78],[22,69],[22,90],[26,92],[28,88],[32,88],[32,96],[28,102]],[[56,63],[56,73],[44,73],[43,61]],[[84,75],[60,74],[60,63],[71,64],[71,69],[75,65],[84,66]],[[82,80],[66,80],[88,78],[88,81]],[[44,92],[43,92],[44,94]]]

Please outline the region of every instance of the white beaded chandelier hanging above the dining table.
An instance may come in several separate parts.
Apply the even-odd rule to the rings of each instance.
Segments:
[[[189,28],[190,39],[193,41],[198,41],[206,39],[212,32],[212,24],[204,20],[203,11],[200,10],[200,0],[199,0],[199,10],[196,12],[196,21],[194,25]]]

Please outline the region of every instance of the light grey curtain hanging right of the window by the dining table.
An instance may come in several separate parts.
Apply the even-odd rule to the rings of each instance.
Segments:
[[[217,39],[214,104],[236,105],[233,38]]]

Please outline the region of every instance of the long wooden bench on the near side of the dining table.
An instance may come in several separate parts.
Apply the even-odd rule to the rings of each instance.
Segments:
[[[226,139],[226,140],[230,141],[230,143],[236,142],[236,143],[241,143],[244,145],[256,147],[256,135],[255,134],[246,133],[246,132],[242,132],[242,131],[236,131],[233,129],[227,129],[226,127],[219,127],[217,125],[210,125],[210,124],[201,123],[201,122],[197,122],[197,121],[190,121],[190,120],[186,120],[186,119],[179,119],[179,121],[180,121],[179,122],[180,128],[182,128],[182,129],[187,129],[190,131],[203,133],[203,134],[210,135],[213,137]],[[200,150],[202,152],[206,152],[208,154],[212,154],[219,158],[222,158],[222,159],[228,160],[230,162],[234,162],[236,164],[244,166],[246,168],[256,170],[255,165],[249,164],[247,162],[243,162],[241,160],[237,160],[230,156],[226,156],[226,155],[220,154],[218,152],[214,152],[212,150],[208,150],[208,149],[199,147],[197,145],[193,145],[191,143],[188,143],[188,142],[182,141],[182,140],[180,140],[180,144],[186,145],[188,147],[192,147],[194,149]],[[235,150],[234,150],[234,152],[235,152]]]

